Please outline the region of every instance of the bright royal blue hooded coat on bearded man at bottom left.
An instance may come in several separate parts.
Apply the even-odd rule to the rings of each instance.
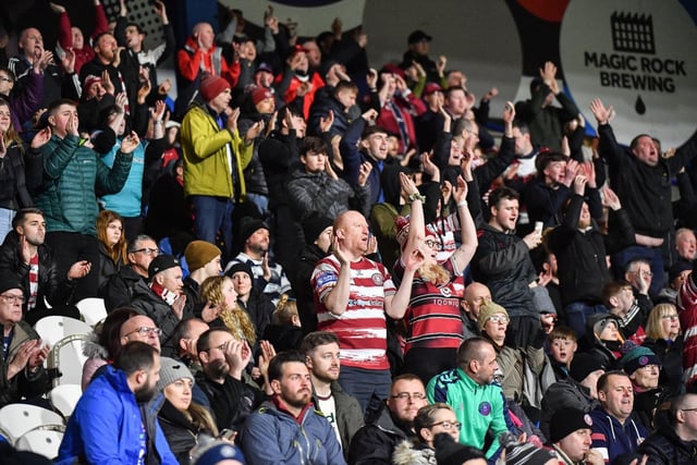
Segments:
[[[156,421],[155,449],[162,465],[179,465]],[[138,463],[144,421],[123,371],[109,367],[83,393],[65,427],[57,465]]]

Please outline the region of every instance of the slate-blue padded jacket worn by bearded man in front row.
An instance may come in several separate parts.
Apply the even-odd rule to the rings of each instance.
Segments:
[[[252,465],[345,465],[337,433],[319,411],[309,407],[298,424],[271,402],[247,417],[242,451]]]

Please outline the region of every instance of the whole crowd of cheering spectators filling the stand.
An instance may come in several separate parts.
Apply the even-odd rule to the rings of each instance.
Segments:
[[[0,63],[0,406],[108,310],[56,463],[697,461],[697,136],[588,137],[552,62],[493,118],[424,30],[93,3]]]

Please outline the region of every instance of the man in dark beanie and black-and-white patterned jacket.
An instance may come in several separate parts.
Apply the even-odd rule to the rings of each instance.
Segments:
[[[270,231],[262,220],[243,218],[240,227],[240,241],[242,252],[230,260],[225,267],[225,274],[230,276],[230,269],[236,264],[247,264],[254,274],[254,285],[264,292],[277,305],[281,294],[291,294],[291,282],[283,271],[281,264],[274,264],[269,259]]]

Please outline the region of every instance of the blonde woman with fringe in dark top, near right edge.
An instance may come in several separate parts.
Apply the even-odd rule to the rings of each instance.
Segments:
[[[675,305],[658,304],[651,309],[641,345],[650,348],[663,364],[659,384],[668,388],[670,396],[682,393],[683,331]]]

